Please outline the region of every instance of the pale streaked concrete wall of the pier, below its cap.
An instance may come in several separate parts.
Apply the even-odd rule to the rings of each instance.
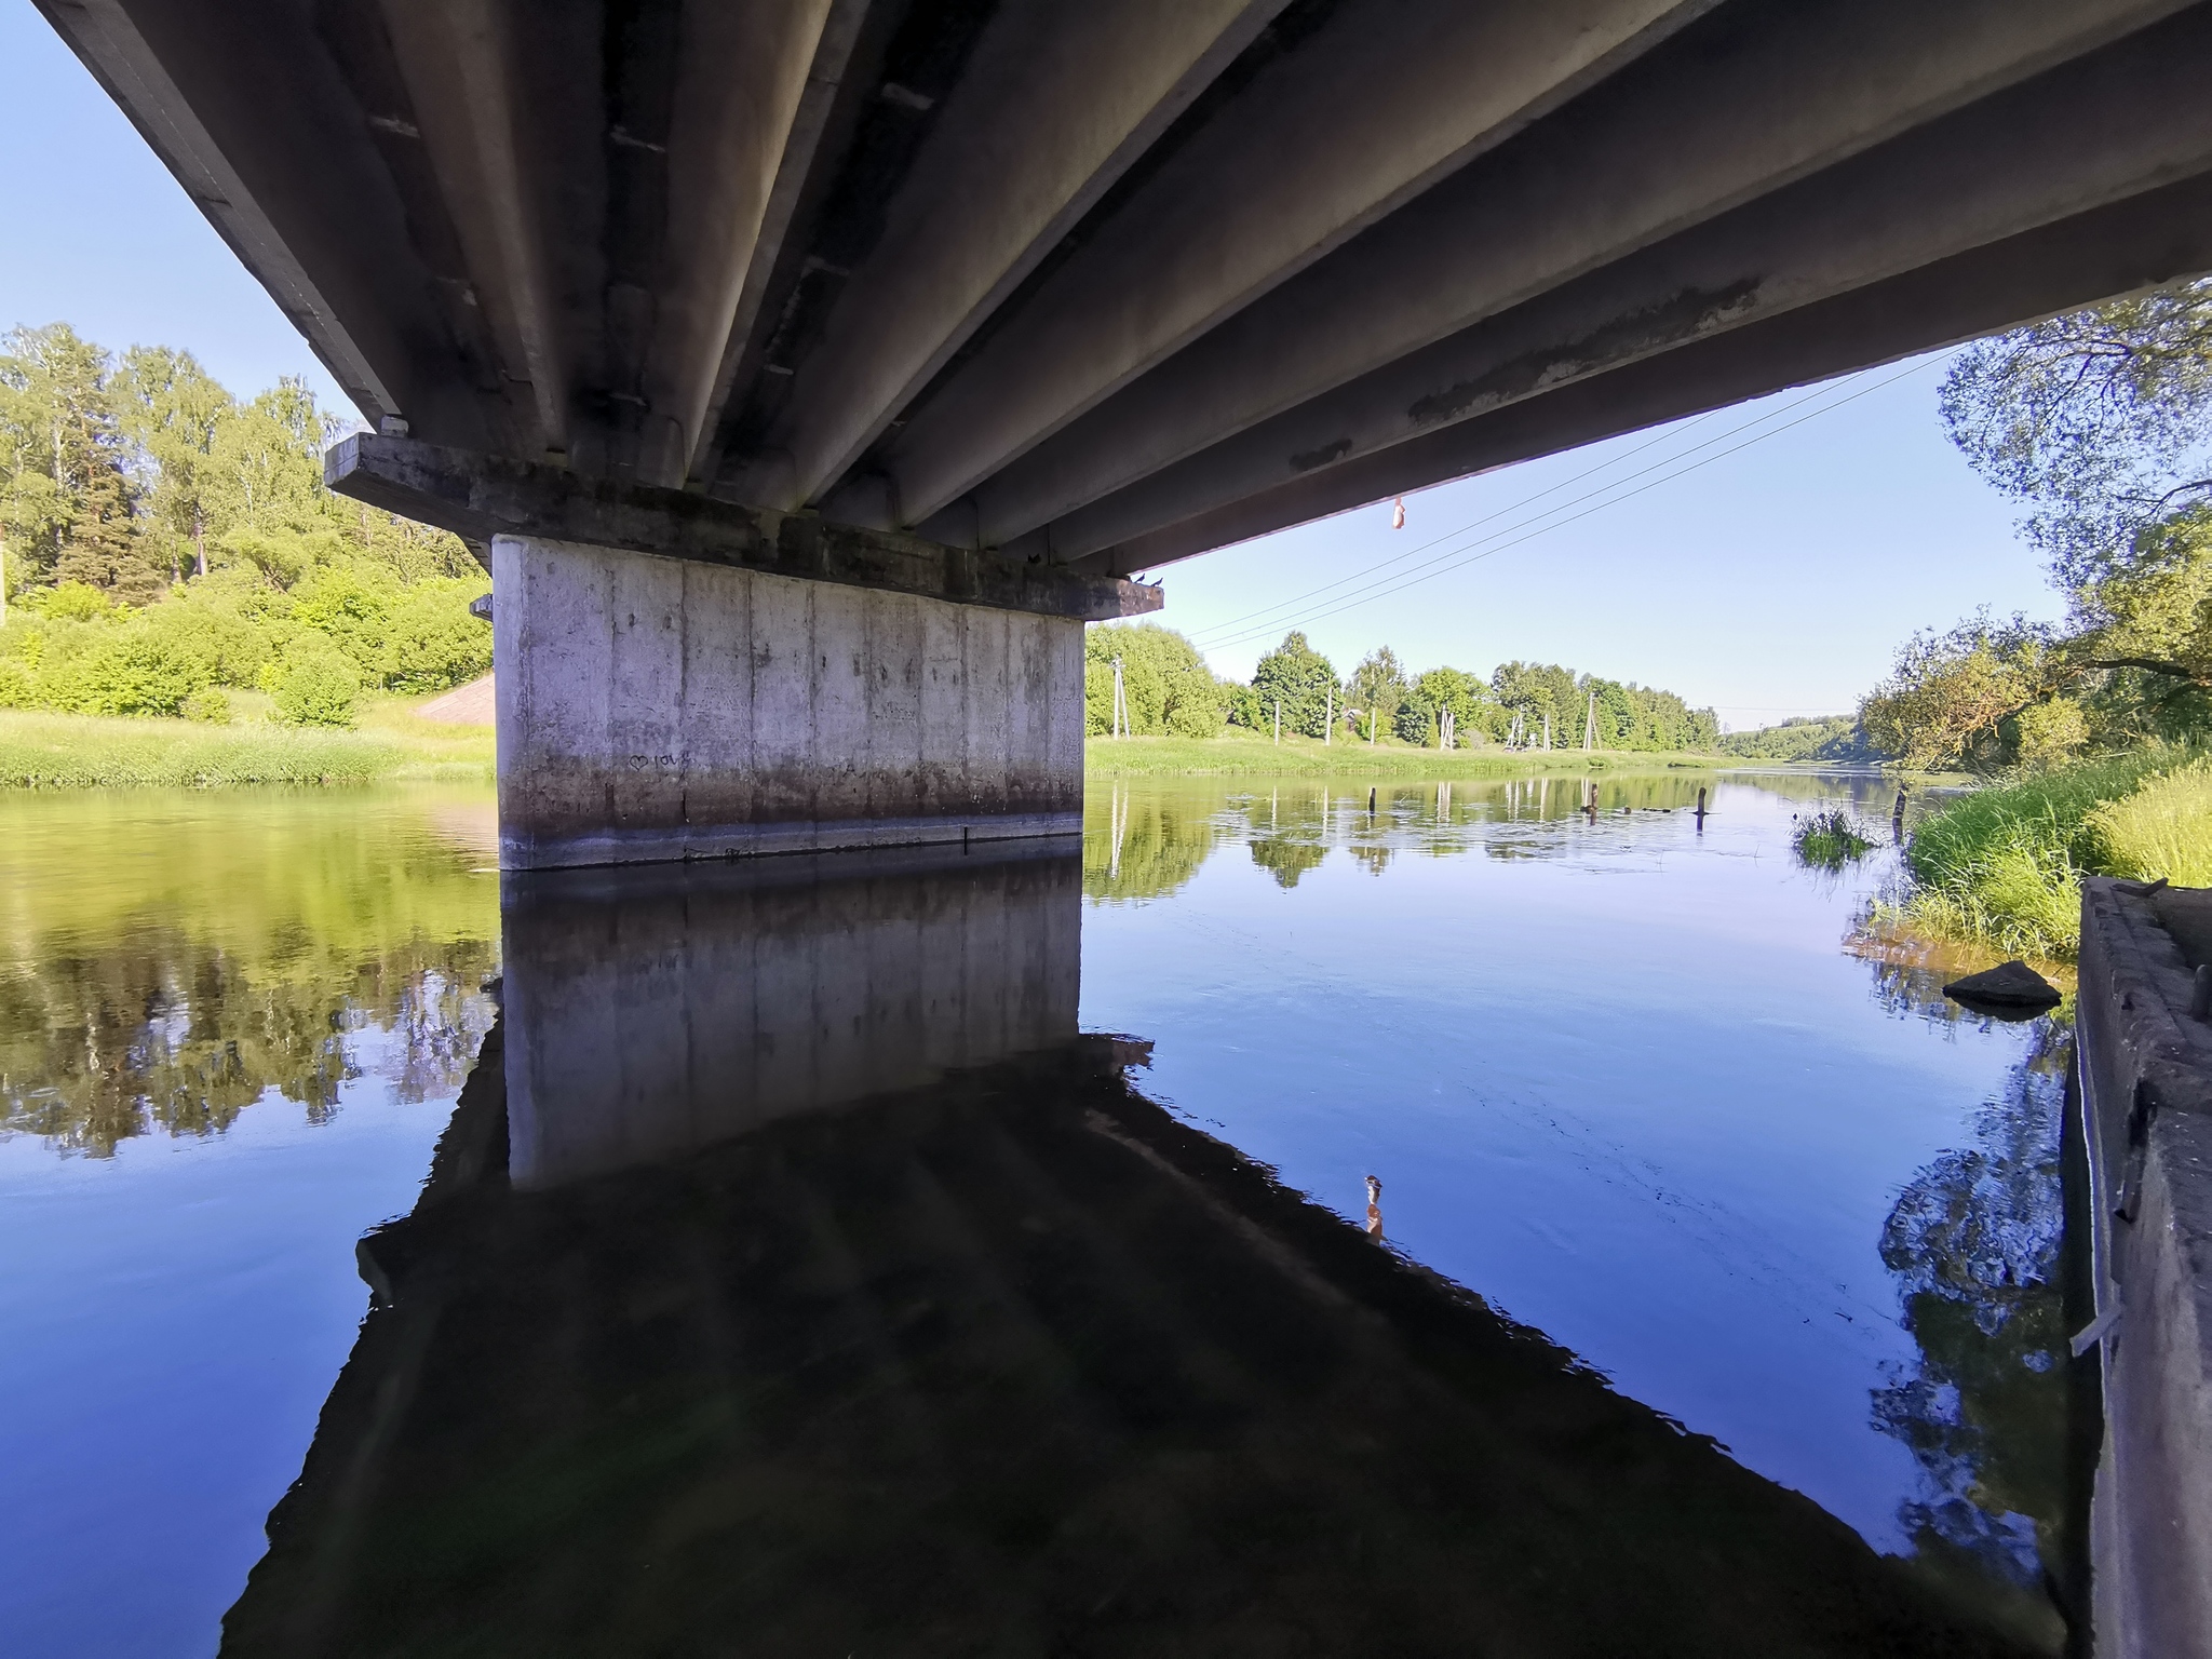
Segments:
[[[500,863],[1082,832],[1082,624],[502,535]]]

